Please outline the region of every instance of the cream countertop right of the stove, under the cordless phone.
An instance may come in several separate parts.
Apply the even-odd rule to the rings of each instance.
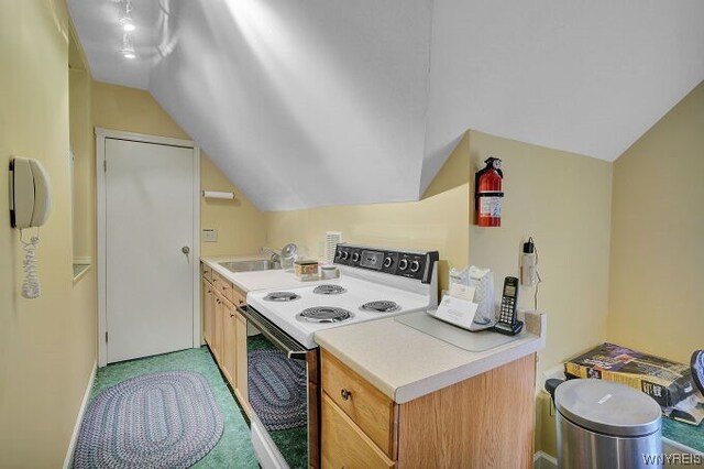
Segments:
[[[483,352],[466,351],[394,318],[326,329],[316,332],[316,341],[403,404],[542,349],[546,315],[526,319],[524,337]]]

